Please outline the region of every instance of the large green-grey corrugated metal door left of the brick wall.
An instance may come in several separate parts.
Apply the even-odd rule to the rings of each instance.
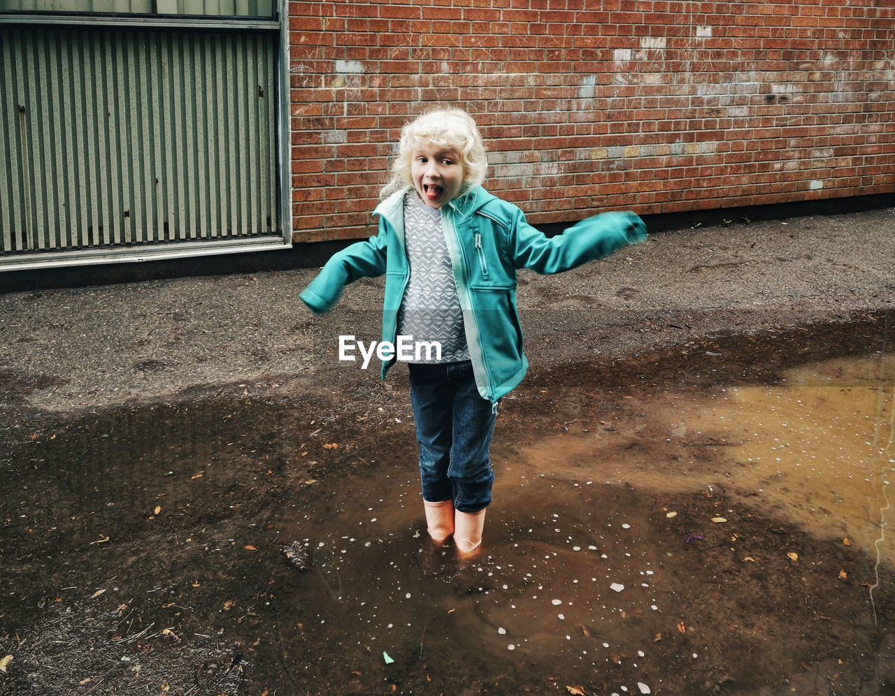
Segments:
[[[0,263],[276,235],[276,45],[265,32],[0,30]]]

